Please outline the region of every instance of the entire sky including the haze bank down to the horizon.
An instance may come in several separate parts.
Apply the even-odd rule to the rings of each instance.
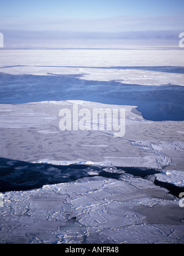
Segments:
[[[6,45],[135,38],[177,44],[183,10],[184,0],[0,0],[0,33]]]

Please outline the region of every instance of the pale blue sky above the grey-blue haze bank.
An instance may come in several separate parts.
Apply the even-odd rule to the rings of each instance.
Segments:
[[[183,32],[183,10],[184,0],[0,0],[0,32]]]

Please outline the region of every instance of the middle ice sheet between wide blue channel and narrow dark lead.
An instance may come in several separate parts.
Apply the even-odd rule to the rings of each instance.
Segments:
[[[116,138],[114,131],[105,130],[105,126],[104,131],[94,131],[93,126],[85,131],[59,130],[59,111],[66,108],[72,111],[73,104],[90,112],[94,107],[125,109],[125,136]],[[180,168],[183,163],[183,134],[175,133],[181,130],[183,122],[147,121],[132,112],[134,106],[47,101],[1,104],[0,109],[1,157],[58,164],[92,162],[147,168],[169,165]]]

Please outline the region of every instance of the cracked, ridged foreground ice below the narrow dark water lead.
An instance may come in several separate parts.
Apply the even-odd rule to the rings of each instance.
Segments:
[[[149,180],[96,176],[3,195],[1,243],[184,242],[178,200]],[[175,208],[177,217],[147,221],[155,207]]]

